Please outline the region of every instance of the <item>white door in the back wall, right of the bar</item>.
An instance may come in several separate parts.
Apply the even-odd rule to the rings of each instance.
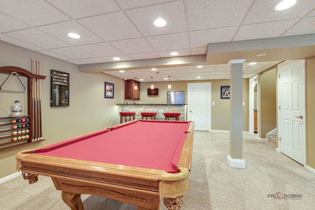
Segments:
[[[195,122],[195,130],[211,130],[211,83],[188,84],[188,120]]]

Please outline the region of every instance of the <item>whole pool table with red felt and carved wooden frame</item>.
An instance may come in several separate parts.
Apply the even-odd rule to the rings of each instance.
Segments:
[[[29,183],[51,177],[63,201],[83,210],[92,194],[159,210],[179,210],[189,189],[193,121],[133,120],[16,154]]]

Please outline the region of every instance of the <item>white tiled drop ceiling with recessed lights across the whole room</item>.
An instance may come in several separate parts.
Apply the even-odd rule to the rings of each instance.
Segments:
[[[0,0],[0,40],[81,65],[108,64],[113,57],[161,60],[172,57],[173,51],[179,52],[178,57],[206,55],[211,43],[315,33],[315,0],[298,0],[287,10],[275,11],[279,1]],[[166,20],[165,27],[153,25],[159,17]],[[72,39],[68,32],[81,38]],[[243,77],[281,61],[274,57],[249,66],[246,60]],[[227,63],[205,64],[203,68],[159,65],[158,71],[147,64],[125,68],[125,73],[117,67],[98,71],[144,82],[151,81],[151,76],[162,81],[168,75],[172,81],[229,78]]]

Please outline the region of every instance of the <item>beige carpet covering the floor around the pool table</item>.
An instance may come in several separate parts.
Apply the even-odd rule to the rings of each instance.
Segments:
[[[230,168],[229,133],[194,135],[191,189],[182,210],[314,210],[315,174],[282,153],[275,144],[243,136],[246,169]],[[50,178],[34,184],[18,177],[0,184],[0,210],[69,210]],[[275,200],[268,194],[301,195],[299,199]],[[136,210],[111,199],[82,195],[85,210]],[[161,210],[166,210],[161,204]]]

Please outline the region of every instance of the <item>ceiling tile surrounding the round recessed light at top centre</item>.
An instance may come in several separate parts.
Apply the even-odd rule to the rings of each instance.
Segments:
[[[131,9],[127,10],[126,14],[144,36],[187,31],[182,1]],[[158,18],[163,18],[166,26],[154,26],[153,22]]]

